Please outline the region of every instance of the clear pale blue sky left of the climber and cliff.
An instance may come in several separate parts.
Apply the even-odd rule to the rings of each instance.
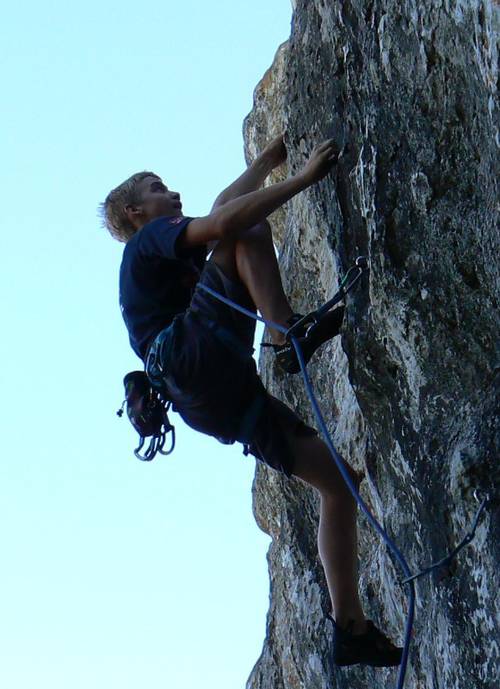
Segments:
[[[255,460],[177,417],[172,458],[133,457],[123,245],[96,208],[152,169],[207,213],[290,19],[289,0],[2,11],[0,686],[238,689],[261,652]]]

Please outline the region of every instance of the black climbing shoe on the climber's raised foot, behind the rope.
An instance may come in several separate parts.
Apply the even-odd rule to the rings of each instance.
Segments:
[[[300,346],[305,364],[308,363],[318,347],[339,334],[340,327],[344,320],[344,312],[345,307],[339,306],[333,311],[327,311],[319,322],[313,323],[312,325],[311,322],[305,323],[294,331],[293,335]],[[291,328],[303,317],[302,314],[295,313],[288,319],[287,325]],[[261,346],[273,348],[279,366],[281,366],[286,373],[299,373],[300,364],[292,342],[285,342],[285,344],[282,345],[262,342]]]

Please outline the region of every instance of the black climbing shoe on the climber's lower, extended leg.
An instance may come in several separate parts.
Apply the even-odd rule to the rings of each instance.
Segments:
[[[401,663],[402,648],[394,646],[371,620],[366,620],[364,634],[353,634],[353,622],[342,629],[334,618],[327,615],[333,624],[333,662],[345,665],[371,665],[372,667],[394,667]]]

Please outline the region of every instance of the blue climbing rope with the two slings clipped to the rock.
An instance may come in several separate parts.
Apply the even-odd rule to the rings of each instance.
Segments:
[[[245,309],[243,306],[240,306],[236,302],[232,301],[231,299],[228,299],[227,297],[222,296],[215,290],[213,290],[211,287],[208,287],[207,285],[204,285],[202,283],[198,283],[198,286],[211,294],[213,297],[216,299],[219,299],[222,301],[224,304],[227,304],[233,309],[236,309],[240,313],[245,314],[249,318],[253,318],[254,320],[261,321],[268,327],[274,328],[278,332],[283,333],[284,335],[287,336],[287,338],[292,342],[295,352],[297,354],[297,359],[299,361],[300,369],[302,372],[302,377],[304,379],[304,384],[307,390],[307,394],[309,396],[309,400],[311,402],[311,406],[314,411],[314,415],[316,417],[316,421],[318,423],[319,428],[321,429],[321,432],[323,433],[323,436],[325,438],[327,447],[330,451],[330,454],[332,456],[333,461],[335,462],[337,468],[339,469],[342,478],[347,484],[347,487],[349,488],[350,492],[352,493],[353,497],[355,498],[357,504],[361,508],[361,510],[364,512],[366,518],[370,522],[370,524],[373,526],[373,528],[377,531],[377,533],[381,536],[389,550],[392,552],[394,555],[395,559],[399,563],[401,569],[403,570],[403,574],[405,576],[405,579],[403,579],[400,583],[405,584],[408,587],[408,613],[406,615],[406,623],[405,623],[405,639],[404,639],[404,645],[403,645],[403,652],[402,652],[402,657],[401,657],[401,663],[399,666],[399,673],[398,673],[398,683],[397,683],[397,689],[403,689],[403,684],[405,680],[405,675],[406,675],[406,669],[408,665],[408,657],[409,657],[409,651],[410,651],[410,643],[411,643],[411,636],[412,636],[412,630],[413,630],[413,622],[415,618],[415,584],[414,581],[416,578],[423,576],[424,574],[428,574],[432,570],[444,566],[450,562],[450,560],[457,555],[457,553],[465,546],[467,543],[470,543],[470,541],[473,539],[479,518],[481,515],[481,512],[483,511],[484,507],[486,506],[487,499],[485,498],[480,507],[479,510],[476,514],[476,517],[474,519],[474,524],[472,530],[465,536],[465,538],[460,542],[460,544],[454,548],[454,550],[445,558],[442,560],[439,560],[437,563],[430,565],[429,567],[425,568],[421,572],[418,572],[417,574],[411,574],[410,568],[408,567],[408,563],[406,562],[405,557],[399,550],[399,548],[396,546],[394,541],[390,538],[388,533],[385,531],[385,529],[379,524],[379,522],[376,520],[376,518],[373,516],[373,514],[370,512],[368,509],[368,506],[366,505],[365,501],[363,498],[360,496],[355,484],[353,483],[346,467],[344,464],[344,460],[342,457],[338,454],[337,450],[335,449],[335,446],[333,444],[332,438],[330,436],[330,433],[328,432],[328,428],[326,426],[325,420],[323,418],[323,415],[321,413],[321,409],[318,404],[318,400],[316,398],[316,395],[314,393],[311,380],[309,378],[309,374],[307,373],[306,369],[306,364],[304,362],[304,358],[302,356],[302,352],[300,349],[300,345],[298,343],[297,338],[294,336],[294,331],[298,329],[298,327],[305,322],[312,321],[315,322],[321,318],[321,316],[326,313],[329,309],[332,308],[332,306],[342,299],[345,298],[347,292],[357,283],[357,281],[360,279],[361,275],[363,272],[365,272],[368,269],[366,259],[362,256],[360,256],[356,260],[355,266],[349,269],[349,271],[346,273],[344,278],[341,280],[340,285],[339,285],[339,290],[338,292],[323,306],[321,306],[319,309],[316,311],[308,314],[304,318],[302,318],[300,321],[298,321],[296,324],[292,326],[292,328],[284,328],[282,325],[278,323],[274,323],[273,321],[270,321],[268,319],[264,319],[261,316],[258,316],[256,313],[253,311],[249,311],[248,309]],[[354,276],[353,276],[354,273]]]

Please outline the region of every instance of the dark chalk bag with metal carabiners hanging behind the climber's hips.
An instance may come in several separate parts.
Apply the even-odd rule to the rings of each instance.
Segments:
[[[160,392],[151,386],[144,371],[127,373],[123,379],[123,385],[125,399],[116,414],[122,416],[123,407],[127,405],[127,416],[140,438],[134,455],[143,462],[150,462],[157,452],[169,455],[175,447],[175,428],[169,422],[167,414],[171,401],[165,400]],[[170,448],[164,450],[168,433],[172,434]],[[144,454],[141,454],[146,438],[151,438],[151,440]]]

